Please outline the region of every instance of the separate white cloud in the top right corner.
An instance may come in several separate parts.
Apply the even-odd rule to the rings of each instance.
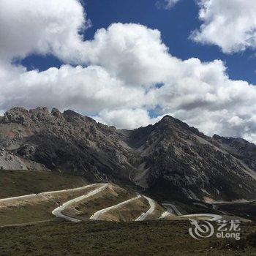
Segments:
[[[256,48],[255,0],[197,0],[203,21],[191,38],[218,45],[224,53]]]

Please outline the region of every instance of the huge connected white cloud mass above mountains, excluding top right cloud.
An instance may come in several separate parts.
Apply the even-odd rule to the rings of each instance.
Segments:
[[[256,141],[256,87],[231,80],[222,61],[177,59],[158,30],[132,23],[114,23],[83,40],[86,19],[78,1],[33,3],[0,1],[1,23],[11,30],[8,37],[0,28],[0,111],[15,105],[72,108],[128,129],[170,114],[207,135]],[[11,64],[30,53],[51,53],[64,64],[43,72]],[[157,118],[150,117],[154,112]]]

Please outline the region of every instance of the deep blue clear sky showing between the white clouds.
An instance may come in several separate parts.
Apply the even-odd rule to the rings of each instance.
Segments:
[[[173,56],[183,60],[191,57],[202,61],[221,59],[227,66],[230,78],[256,84],[254,50],[225,54],[216,45],[201,45],[189,39],[191,31],[202,23],[198,19],[199,7],[193,0],[181,0],[170,10],[157,8],[156,0],[87,0],[83,1],[83,5],[92,23],[91,28],[83,33],[85,39],[93,39],[97,29],[108,28],[111,23],[140,23],[161,31],[162,41]],[[29,70],[45,70],[64,64],[52,55],[34,54],[23,59],[21,63]]]

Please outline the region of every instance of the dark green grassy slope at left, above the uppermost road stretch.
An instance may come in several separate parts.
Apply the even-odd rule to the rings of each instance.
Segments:
[[[45,171],[0,170],[0,198],[82,187],[78,176]]]

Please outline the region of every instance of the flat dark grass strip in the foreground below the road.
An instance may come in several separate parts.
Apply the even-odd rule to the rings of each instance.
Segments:
[[[231,239],[189,236],[187,221],[177,222],[45,222],[0,228],[1,255],[256,255],[256,248],[230,248]],[[241,237],[256,224],[241,225]],[[224,244],[223,244],[224,242]],[[235,244],[239,244],[235,242]]]

